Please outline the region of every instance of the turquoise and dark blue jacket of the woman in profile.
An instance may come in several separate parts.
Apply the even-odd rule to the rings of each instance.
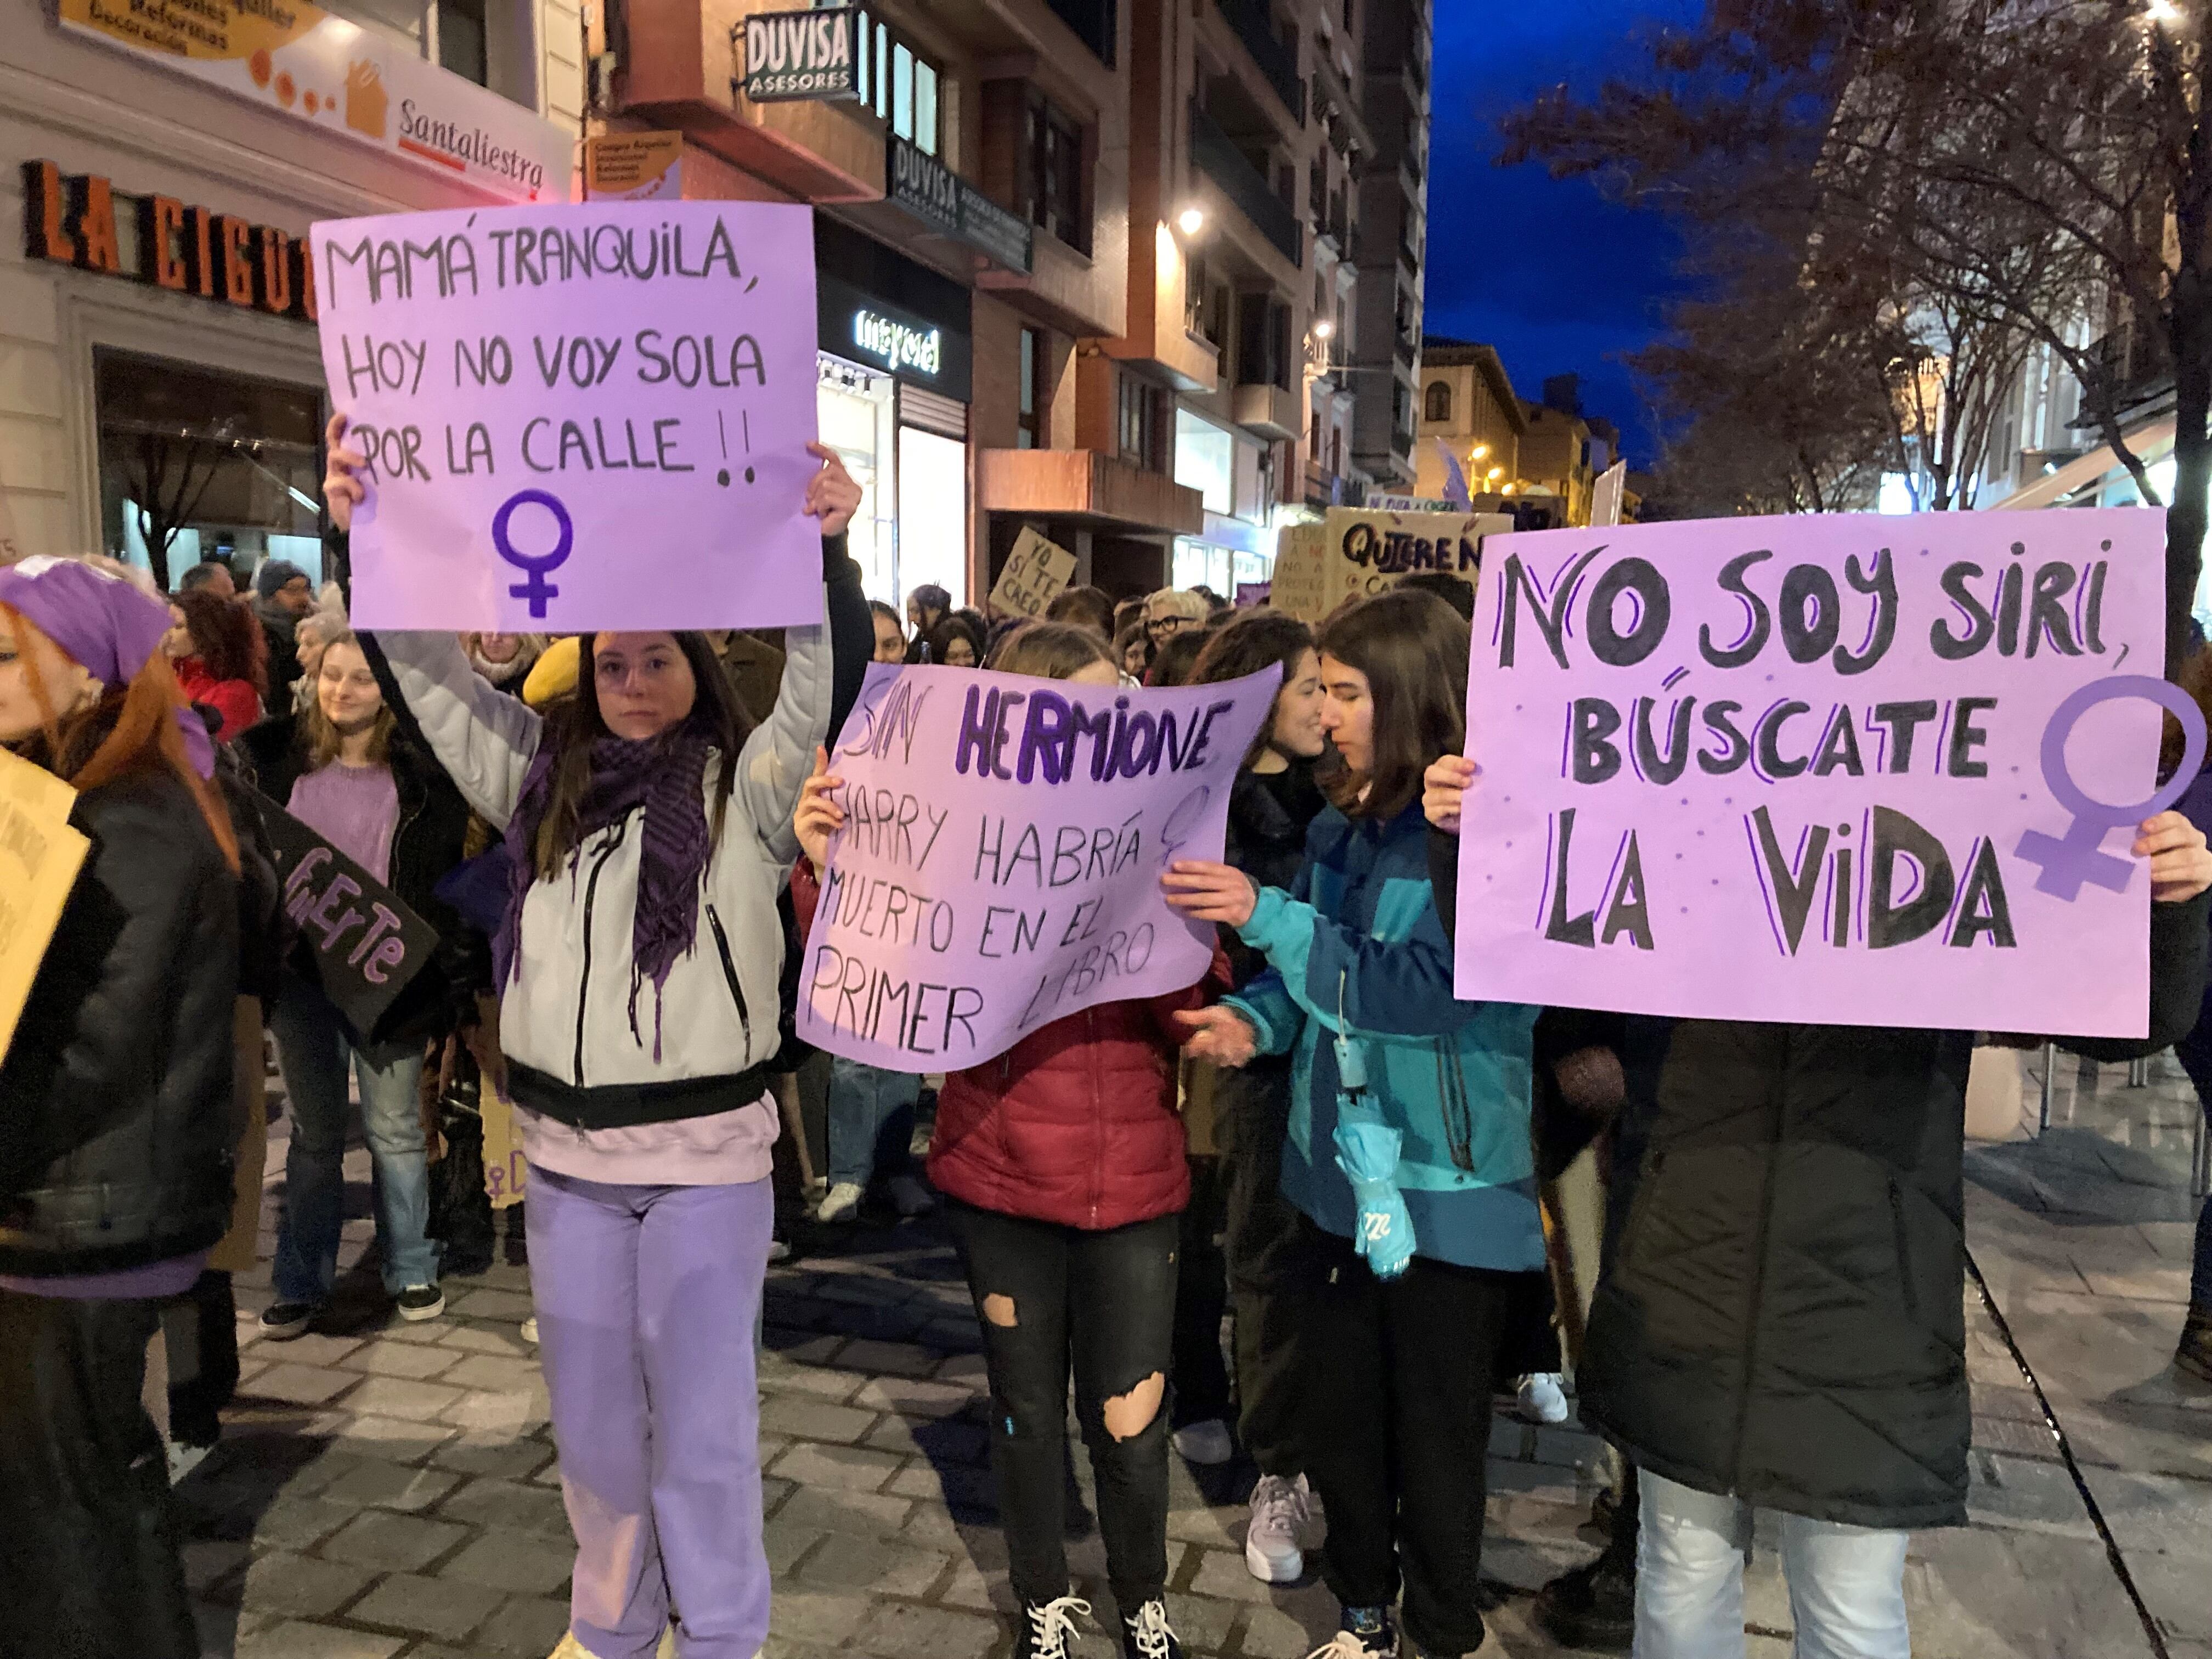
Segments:
[[[1252,1020],[1261,1053],[1296,1055],[1283,1197],[1354,1237],[1352,1181],[1336,1168],[1334,1040],[1347,1029],[1371,1110],[1405,1137],[1396,1183],[1416,1254],[1528,1272],[1544,1265],[1528,1141],[1540,1009],[1451,995],[1427,843],[1418,803],[1389,823],[1336,807],[1314,818],[1292,889],[1263,887],[1239,929],[1267,971],[1228,1002]]]

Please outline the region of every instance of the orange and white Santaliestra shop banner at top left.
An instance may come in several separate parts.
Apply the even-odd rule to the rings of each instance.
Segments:
[[[515,201],[566,201],[551,122],[305,0],[60,0],[62,27]]]

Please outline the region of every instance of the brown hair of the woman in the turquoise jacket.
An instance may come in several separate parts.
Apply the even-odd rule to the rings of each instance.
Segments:
[[[1321,628],[1321,653],[1367,675],[1374,697],[1374,765],[1321,783],[1347,818],[1396,818],[1436,757],[1467,748],[1467,648],[1460,613],[1418,588],[1360,599]]]

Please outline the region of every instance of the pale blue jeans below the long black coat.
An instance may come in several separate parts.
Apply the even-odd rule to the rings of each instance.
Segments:
[[[1639,1471],[1635,1659],[1743,1659],[1743,1546],[1734,1498]],[[1796,1659],[1911,1659],[1905,1632],[1909,1533],[1783,1515]]]

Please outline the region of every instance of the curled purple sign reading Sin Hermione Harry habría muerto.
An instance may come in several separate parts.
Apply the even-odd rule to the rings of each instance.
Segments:
[[[1099,1002],[1179,991],[1214,931],[1168,909],[1219,858],[1279,670],[1119,690],[874,664],[832,770],[832,843],[799,1035],[889,1071],[958,1071]]]

